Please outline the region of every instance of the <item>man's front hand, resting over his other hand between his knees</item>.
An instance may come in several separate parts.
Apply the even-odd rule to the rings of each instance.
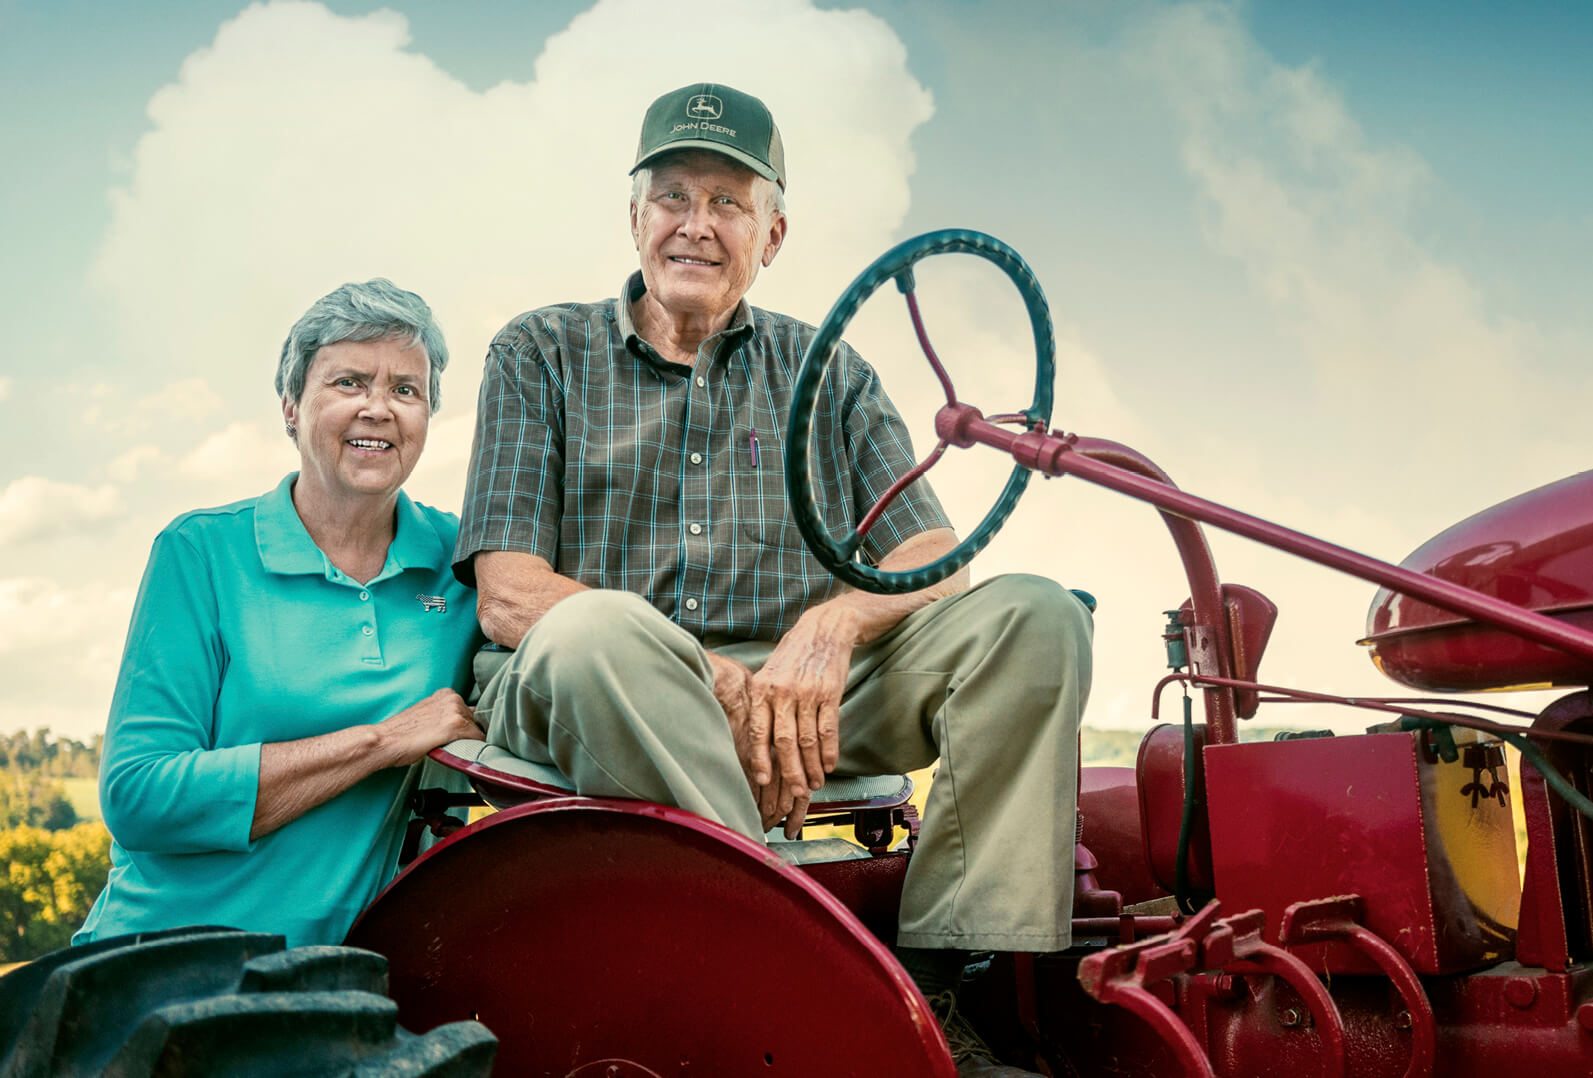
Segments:
[[[840,760],[841,694],[855,643],[851,607],[824,603],[798,618],[752,675],[753,721],[769,726],[781,780],[793,801],[806,803]]]

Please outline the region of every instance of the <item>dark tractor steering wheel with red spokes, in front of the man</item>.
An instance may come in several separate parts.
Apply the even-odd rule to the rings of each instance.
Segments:
[[[929,468],[940,459],[940,454],[945,452],[948,444],[946,441],[935,446],[933,452],[930,452],[919,465],[897,479],[890,489],[879,497],[873,508],[863,514],[862,521],[852,529],[851,535],[836,540],[830,535],[824,521],[819,518],[812,490],[812,475],[808,468],[808,446],[812,433],[814,404],[819,398],[819,387],[824,384],[824,373],[830,365],[835,347],[841,342],[841,333],[851,323],[857,309],[862,307],[863,303],[887,280],[894,279],[897,282],[897,288],[906,296],[913,328],[918,331],[918,341],[924,349],[924,355],[929,358],[937,377],[940,377],[941,389],[946,393],[946,404],[957,404],[957,395],[951,385],[951,379],[946,376],[935,350],[929,344],[929,336],[924,333],[924,322],[918,312],[918,296],[914,295],[913,280],[914,263],[929,258],[930,255],[945,255],[953,252],[978,255],[980,258],[1000,266],[1000,269],[1012,279],[1012,283],[1018,287],[1018,293],[1023,296],[1023,306],[1029,311],[1029,323],[1034,328],[1034,403],[1031,403],[1023,412],[1015,416],[991,417],[991,420],[1023,422],[1026,428],[1042,432],[1051,420],[1051,384],[1056,376],[1056,341],[1051,334],[1051,311],[1045,303],[1045,293],[1040,291],[1040,282],[1035,280],[1034,271],[1029,269],[1029,264],[1023,261],[1018,252],[1007,247],[994,236],[948,228],[937,232],[926,232],[924,236],[897,244],[876,258],[868,269],[857,275],[857,280],[847,285],[846,291],[841,293],[841,298],[835,301],[835,306],[830,307],[830,314],[827,314],[824,322],[819,325],[819,334],[812,339],[812,344],[808,346],[808,353],[801,361],[801,371],[796,374],[796,385],[792,393],[790,420],[785,432],[785,495],[790,500],[792,514],[796,519],[796,529],[808,543],[808,549],[812,551],[814,557],[817,557],[825,568],[847,584],[863,591],[900,594],[929,588],[930,584],[951,576],[951,573],[967,565],[973,560],[975,554],[984,549],[984,545],[989,543],[996,532],[1000,530],[1000,525],[1007,522],[1007,516],[1012,514],[1013,506],[1018,505],[1018,497],[1029,484],[1029,470],[1023,465],[1015,467],[1012,470],[1012,476],[1007,479],[1007,486],[1000,492],[1000,497],[996,498],[996,505],[991,506],[991,511],[984,514],[980,525],[973,529],[973,532],[962,540],[956,549],[929,565],[906,572],[879,570],[873,565],[854,560],[854,556],[862,548],[863,537],[879,519],[884,508],[910,482],[929,471]]]

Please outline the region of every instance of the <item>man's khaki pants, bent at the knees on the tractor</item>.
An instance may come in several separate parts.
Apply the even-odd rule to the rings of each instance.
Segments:
[[[1091,619],[1039,576],[941,599],[852,653],[838,774],[940,760],[902,895],[898,943],[1061,951],[1070,943],[1078,717]],[[773,645],[715,648],[753,670]],[[690,809],[763,839],[703,645],[644,599],[578,592],[481,693],[487,740],[578,791]]]

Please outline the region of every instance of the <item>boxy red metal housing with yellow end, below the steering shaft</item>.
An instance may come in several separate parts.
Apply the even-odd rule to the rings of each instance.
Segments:
[[[1413,734],[1209,745],[1204,756],[1223,903],[1263,909],[1276,932],[1294,903],[1362,895],[1367,928],[1419,973],[1510,955],[1510,810],[1493,798],[1470,804],[1461,763],[1440,766]],[[1316,970],[1376,970],[1338,943],[1303,954]]]

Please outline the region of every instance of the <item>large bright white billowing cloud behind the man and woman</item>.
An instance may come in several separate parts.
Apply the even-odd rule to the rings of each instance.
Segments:
[[[792,239],[752,299],[819,318],[906,213],[929,94],[902,41],[863,11],[730,0],[712,33],[706,57],[701,21],[601,0],[523,80],[476,92],[416,53],[392,11],[342,18],[288,0],[225,22],[150,100],[92,268],[118,326],[104,365],[118,382],[86,390],[73,419],[121,439],[104,467],[139,482],[139,519],[123,530],[250,497],[296,467],[271,389],[282,338],[317,296],[374,275],[425,296],[448,333],[443,411],[409,492],[456,510],[486,342],[529,307],[615,293],[636,266],[626,172],[642,113],[691,80],[728,81],[774,110]],[[54,518],[0,511],[0,535],[37,519]],[[104,549],[94,568],[131,586],[145,549]],[[76,624],[49,599],[67,592],[14,592],[19,632]],[[102,718],[94,693],[110,691],[124,624],[123,613],[94,651],[94,677],[83,654],[13,646],[0,713],[38,713],[48,699],[21,669],[32,664],[84,686],[62,721]]]

